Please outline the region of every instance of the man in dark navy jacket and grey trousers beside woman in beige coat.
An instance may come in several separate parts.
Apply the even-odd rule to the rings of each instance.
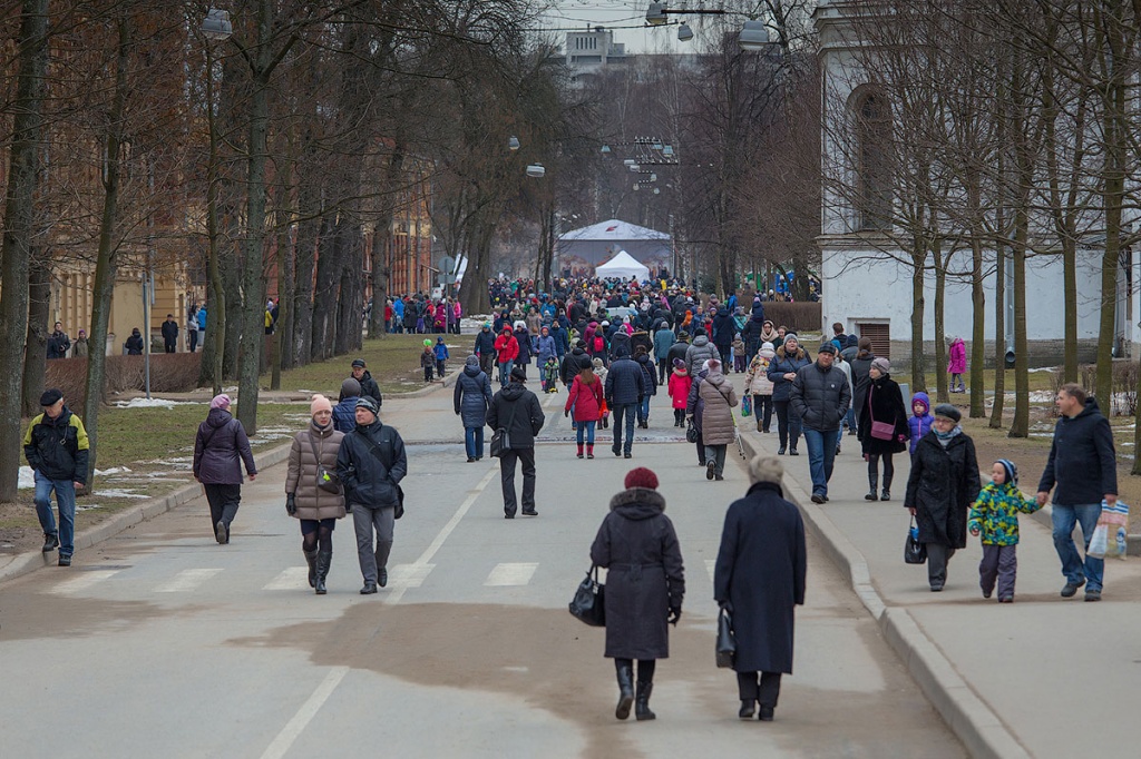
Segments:
[[[337,452],[337,476],[345,488],[346,511],[353,512],[357,561],[364,577],[362,596],[377,593],[378,585],[388,585],[396,509],[403,508],[404,500],[400,480],[408,473],[404,440],[396,427],[381,423],[379,413],[372,398],[358,398],[356,429],[345,435]]]

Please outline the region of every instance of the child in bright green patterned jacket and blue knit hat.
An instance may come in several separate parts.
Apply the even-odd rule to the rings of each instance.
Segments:
[[[1018,467],[1001,458],[990,467],[990,482],[971,506],[966,527],[971,534],[982,536],[982,561],[979,563],[979,587],[989,598],[998,582],[998,603],[1014,602],[1014,579],[1018,574],[1018,513],[1033,514],[1042,508],[1035,499],[1018,489]]]

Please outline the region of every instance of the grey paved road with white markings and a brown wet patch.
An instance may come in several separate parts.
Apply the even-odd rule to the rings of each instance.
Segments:
[[[361,585],[341,523],[330,593],[305,580],[284,467],[244,491],[229,546],[187,506],[0,586],[0,753],[87,757],[962,757],[844,578],[809,546],[796,672],[777,721],[736,718],[713,667],[710,564],[741,459],[707,482],[655,399],[632,464],[662,480],[689,593],[658,667],[655,723],[617,723],[602,632],[566,612],[630,462],[574,458],[541,397],[535,519],[502,519],[494,459],[463,463],[451,392],[386,401],[410,442],[391,581]],[[557,406],[558,405],[558,406]]]

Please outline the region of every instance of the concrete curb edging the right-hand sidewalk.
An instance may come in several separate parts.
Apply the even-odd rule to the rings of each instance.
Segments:
[[[751,435],[742,433],[742,442],[746,457],[758,454]],[[971,757],[987,759],[1029,759],[1030,754],[1026,749],[963,680],[955,666],[923,632],[907,610],[888,607],[873,585],[867,560],[828,519],[824,509],[811,503],[809,493],[791,478],[785,478],[784,491],[785,498],[800,508],[808,529],[820,541],[828,558],[848,573],[852,590],[875,619],[884,639],[947,726],[963,742],[966,752]]]

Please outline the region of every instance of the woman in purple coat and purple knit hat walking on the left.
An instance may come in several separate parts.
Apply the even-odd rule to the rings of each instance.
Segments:
[[[230,524],[242,504],[242,464],[250,482],[258,476],[245,427],[229,413],[229,395],[215,395],[194,439],[194,479],[210,504],[210,524],[219,545],[229,542]]]

